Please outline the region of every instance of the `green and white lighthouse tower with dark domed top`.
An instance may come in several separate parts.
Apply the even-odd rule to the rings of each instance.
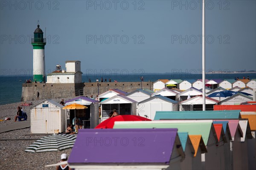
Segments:
[[[45,82],[44,46],[46,38],[44,32],[39,28],[35,29],[34,38],[31,39],[33,46],[33,81]]]

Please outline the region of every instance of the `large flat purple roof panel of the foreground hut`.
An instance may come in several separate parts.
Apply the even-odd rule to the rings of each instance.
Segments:
[[[70,153],[68,164],[71,166],[90,165],[90,163],[169,164],[176,149],[173,142],[176,136],[176,128],[81,129]],[[132,143],[134,139],[140,142]],[[178,150],[184,156],[182,148]]]

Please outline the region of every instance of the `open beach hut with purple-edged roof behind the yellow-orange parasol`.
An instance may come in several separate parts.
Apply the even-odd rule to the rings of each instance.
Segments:
[[[80,118],[84,128],[94,128],[99,124],[99,101],[80,96],[77,98],[65,101],[65,106],[70,104],[81,104],[87,107],[87,109],[77,109],[76,116]],[[75,117],[75,110],[67,110],[66,127],[67,124],[72,124],[72,120]]]

